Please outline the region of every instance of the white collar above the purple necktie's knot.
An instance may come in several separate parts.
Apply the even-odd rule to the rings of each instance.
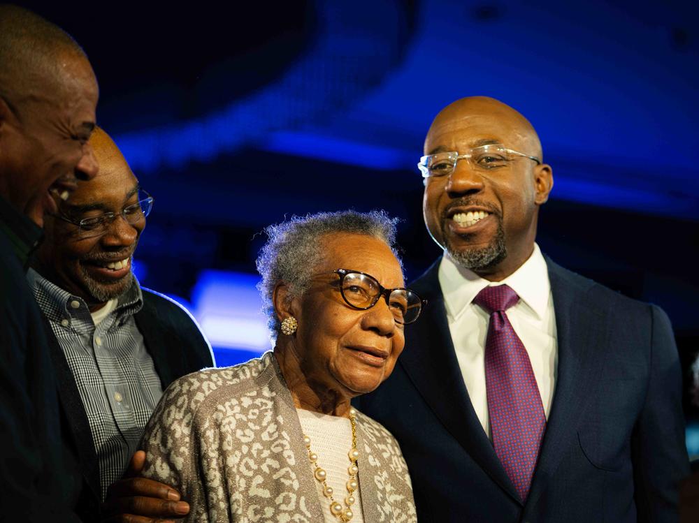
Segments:
[[[503,281],[488,281],[472,270],[459,267],[447,251],[442,256],[438,278],[447,315],[452,319],[460,316],[476,295],[489,285],[507,283],[539,319],[546,314],[551,294],[548,267],[537,244],[534,244],[526,262]]]

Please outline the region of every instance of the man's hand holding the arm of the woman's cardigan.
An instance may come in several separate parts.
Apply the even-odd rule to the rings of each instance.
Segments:
[[[173,487],[138,477],[143,464],[145,452],[137,450],[124,478],[109,486],[102,523],[165,523],[189,514],[189,503]]]

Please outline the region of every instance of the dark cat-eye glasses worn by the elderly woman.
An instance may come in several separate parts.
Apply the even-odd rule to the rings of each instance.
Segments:
[[[375,277],[366,272],[347,269],[333,272],[340,277],[340,294],[343,300],[353,309],[371,309],[383,296],[396,323],[408,325],[417,320],[422,307],[427,304],[426,300],[422,300],[410,289],[384,288]]]

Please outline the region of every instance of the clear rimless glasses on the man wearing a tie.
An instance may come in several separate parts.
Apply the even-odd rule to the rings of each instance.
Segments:
[[[420,158],[417,168],[423,178],[449,176],[456,170],[456,162],[465,159],[471,168],[480,171],[493,171],[508,167],[516,158],[528,158],[541,165],[541,160],[536,156],[529,156],[523,152],[507,149],[503,145],[489,144],[473,147],[464,154],[456,151],[438,152],[428,154]]]

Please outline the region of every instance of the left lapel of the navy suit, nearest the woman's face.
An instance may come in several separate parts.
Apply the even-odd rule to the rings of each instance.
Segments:
[[[440,260],[410,285],[428,301],[424,317],[409,325],[405,351],[398,359],[415,388],[447,431],[513,499],[519,496],[473,409],[449,334],[447,311],[438,279]],[[414,328],[413,328],[414,327]],[[431,371],[425,371],[426,368]]]

